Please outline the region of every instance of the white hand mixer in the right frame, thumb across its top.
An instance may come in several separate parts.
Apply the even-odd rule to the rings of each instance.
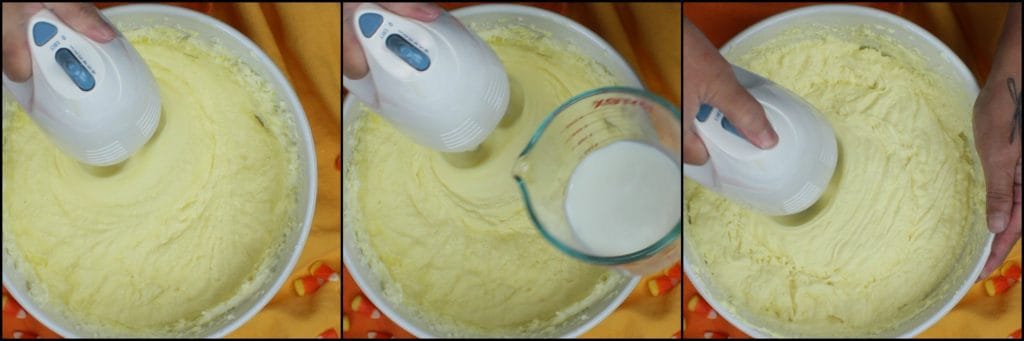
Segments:
[[[767,215],[802,212],[824,194],[836,170],[836,135],[817,110],[778,84],[732,67],[739,84],[764,106],[778,134],[769,150],[754,146],[717,109],[701,104],[694,126],[710,156],[683,164],[683,175]]]

